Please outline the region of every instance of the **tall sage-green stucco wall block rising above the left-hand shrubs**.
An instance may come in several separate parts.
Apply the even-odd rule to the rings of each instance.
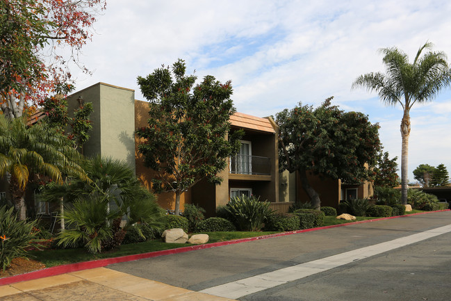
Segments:
[[[102,154],[126,161],[135,170],[135,92],[97,83],[70,95],[69,113],[79,106],[76,99],[92,102],[92,131],[83,148],[86,156]]]

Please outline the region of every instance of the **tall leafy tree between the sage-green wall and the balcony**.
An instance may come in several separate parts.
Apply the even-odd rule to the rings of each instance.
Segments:
[[[183,60],[172,70],[163,66],[146,78],[138,77],[149,100],[149,127],[136,131],[143,139],[138,150],[145,165],[156,172],[152,188],[175,193],[176,214],[188,188],[202,179],[222,181],[218,172],[238,152],[242,135],[230,133],[229,118],[235,112],[231,82],[220,83],[208,75],[194,87],[196,79],[186,75]]]

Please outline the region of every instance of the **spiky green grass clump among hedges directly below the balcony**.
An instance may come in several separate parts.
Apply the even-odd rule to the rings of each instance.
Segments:
[[[260,231],[265,220],[274,213],[270,202],[260,202],[259,197],[232,197],[224,208],[240,231]]]

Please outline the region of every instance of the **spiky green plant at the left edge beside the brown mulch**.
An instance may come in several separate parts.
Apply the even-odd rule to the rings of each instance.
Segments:
[[[28,247],[40,248],[40,239],[33,231],[36,221],[19,220],[14,208],[0,208],[0,270],[6,270],[16,257],[24,257]]]

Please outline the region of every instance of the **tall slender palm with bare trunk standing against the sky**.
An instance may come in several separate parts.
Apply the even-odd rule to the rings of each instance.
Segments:
[[[431,47],[432,44],[429,42],[420,47],[413,63],[409,63],[407,54],[396,47],[381,49],[386,74],[367,73],[357,77],[352,83],[352,88],[365,87],[368,91],[376,91],[387,105],[400,104],[404,110],[401,121],[402,204],[407,204],[410,109],[417,102],[432,100],[440,90],[451,83],[451,71],[443,52],[428,51],[421,56],[424,49]]]

